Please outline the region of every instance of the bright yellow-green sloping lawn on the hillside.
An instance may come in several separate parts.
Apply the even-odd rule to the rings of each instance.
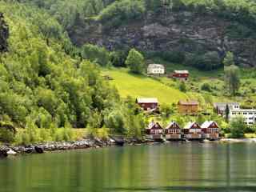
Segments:
[[[103,69],[102,74],[114,78],[110,83],[117,87],[123,98],[128,95],[133,98],[158,98],[160,103],[173,103],[187,98],[186,94],[174,87],[166,86],[154,78],[130,74],[127,69]]]

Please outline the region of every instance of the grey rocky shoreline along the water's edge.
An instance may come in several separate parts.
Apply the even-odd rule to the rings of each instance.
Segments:
[[[210,141],[208,141],[210,142]],[[216,141],[215,141],[216,142]],[[222,138],[218,143],[241,143],[251,142],[256,143],[256,138]],[[63,151],[63,150],[79,150],[79,149],[92,149],[102,148],[109,146],[123,146],[124,144],[134,146],[141,144],[152,144],[155,143],[152,140],[140,140],[140,139],[124,139],[124,138],[108,138],[102,140],[99,138],[86,138],[76,142],[47,142],[42,144],[31,144],[27,146],[0,146],[0,158],[7,158],[9,155],[16,154],[43,154],[45,152]]]

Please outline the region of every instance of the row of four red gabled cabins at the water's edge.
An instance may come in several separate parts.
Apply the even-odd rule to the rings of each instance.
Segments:
[[[177,122],[170,122],[170,124],[163,129],[158,122],[150,122],[150,125],[146,129],[146,134],[151,139],[162,140],[218,140],[219,138],[219,126],[217,122],[206,121],[200,126],[197,122],[189,122],[184,129],[178,126]]]

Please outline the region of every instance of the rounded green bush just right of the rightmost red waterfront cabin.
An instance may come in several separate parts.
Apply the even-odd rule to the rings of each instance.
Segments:
[[[232,121],[230,122],[231,138],[242,138],[245,130],[246,125],[244,123],[243,117],[237,117],[232,119]]]

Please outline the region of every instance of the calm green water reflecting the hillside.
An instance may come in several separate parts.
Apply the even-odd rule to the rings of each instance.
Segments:
[[[256,191],[256,144],[173,143],[0,160],[0,192]]]

